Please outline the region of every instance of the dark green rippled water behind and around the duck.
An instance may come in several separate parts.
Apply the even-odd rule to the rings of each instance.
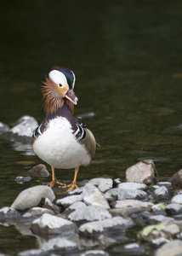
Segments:
[[[155,160],[160,179],[167,180],[182,166],[181,9],[179,0],[3,1],[0,121],[12,126],[28,114],[40,123],[41,81],[52,66],[68,67],[77,77],[76,115],[94,112],[83,120],[101,144],[78,180],[124,178],[128,166],[145,158]],[[0,207],[43,182],[14,181],[42,161],[14,150],[6,137],[0,159]],[[56,173],[73,177],[73,171]],[[0,237],[0,253],[37,247],[34,237],[14,227],[1,226]]]

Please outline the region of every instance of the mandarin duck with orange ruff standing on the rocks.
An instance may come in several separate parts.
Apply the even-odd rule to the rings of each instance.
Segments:
[[[89,165],[96,147],[93,133],[73,116],[78,101],[73,91],[75,80],[75,74],[65,67],[53,67],[48,73],[42,87],[46,117],[33,132],[31,143],[34,153],[51,166],[52,182],[48,186],[58,184],[65,192],[78,188],[79,166]],[[55,168],[75,168],[72,183],[58,182]]]

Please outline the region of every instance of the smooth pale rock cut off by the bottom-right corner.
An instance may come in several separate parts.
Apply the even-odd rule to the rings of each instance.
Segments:
[[[182,254],[182,241],[173,240],[164,244],[157,251],[155,256],[179,256]]]

